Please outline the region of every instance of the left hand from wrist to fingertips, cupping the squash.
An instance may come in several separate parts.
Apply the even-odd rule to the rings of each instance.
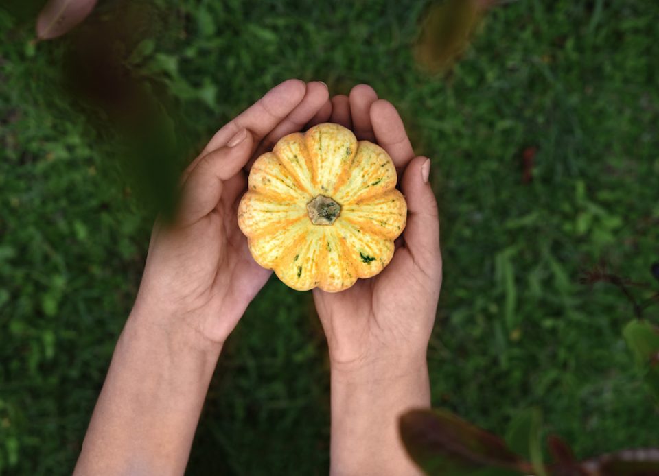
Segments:
[[[133,312],[165,328],[221,344],[266,283],[252,259],[236,206],[243,168],[281,137],[329,118],[327,86],[285,81],[222,127],[182,178],[174,222],[154,226]]]

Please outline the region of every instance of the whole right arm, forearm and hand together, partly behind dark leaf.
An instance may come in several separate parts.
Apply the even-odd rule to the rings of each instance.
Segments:
[[[370,86],[355,86],[330,121],[377,142],[404,170],[402,242],[378,276],[340,293],[314,289],[332,375],[332,475],[421,474],[398,436],[400,414],[430,407],[426,348],[437,313],[441,252],[430,163],[415,157],[402,120]],[[399,172],[400,176],[400,172]]]

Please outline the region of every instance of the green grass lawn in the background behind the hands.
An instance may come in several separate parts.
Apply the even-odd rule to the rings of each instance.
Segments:
[[[447,77],[415,67],[425,6],[164,5],[165,26],[141,39],[156,40],[179,160],[286,78],[332,93],[371,84],[433,160],[445,260],[433,404],[499,433],[540,407],[580,457],[658,445],[659,412],[621,336],[632,309],[578,278],[603,259],[650,283],[659,259],[659,4],[496,8]],[[52,475],[80,450],[152,207],[112,134],[58,86],[69,40],[32,51],[31,22],[0,10],[0,473]],[[273,278],[221,357],[189,474],[327,473],[325,352],[310,295]]]

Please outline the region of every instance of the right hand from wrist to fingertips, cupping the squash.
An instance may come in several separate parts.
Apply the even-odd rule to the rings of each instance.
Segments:
[[[391,156],[408,206],[407,226],[384,271],[340,293],[314,289],[333,372],[376,362],[425,362],[441,287],[437,202],[428,183],[430,160],[415,157],[402,120],[373,88],[355,86],[332,98],[331,122],[354,129]],[[402,173],[402,176],[401,176]]]

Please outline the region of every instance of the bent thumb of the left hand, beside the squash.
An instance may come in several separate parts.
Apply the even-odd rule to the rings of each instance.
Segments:
[[[242,173],[251,156],[252,143],[252,135],[241,129],[225,147],[198,160],[183,183],[177,213],[179,224],[192,224],[215,209],[222,198],[224,182]]]

